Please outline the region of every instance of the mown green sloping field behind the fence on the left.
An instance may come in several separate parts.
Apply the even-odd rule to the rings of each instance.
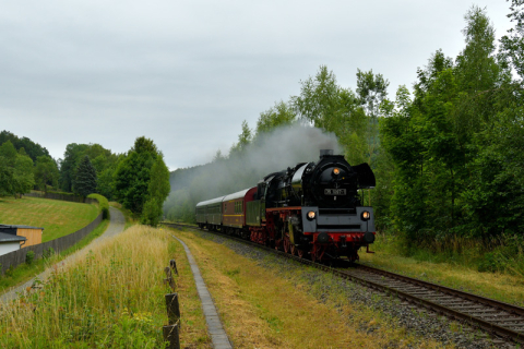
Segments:
[[[0,197],[0,224],[43,227],[41,242],[75,232],[97,215],[96,205],[38,197]]]

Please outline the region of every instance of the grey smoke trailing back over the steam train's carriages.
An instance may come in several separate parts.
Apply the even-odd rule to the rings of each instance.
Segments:
[[[342,147],[333,133],[295,123],[264,133],[228,158],[177,170],[171,173],[171,193],[164,210],[170,219],[188,220],[200,201],[255,186],[265,176],[295,167],[298,163],[317,161],[320,149]]]

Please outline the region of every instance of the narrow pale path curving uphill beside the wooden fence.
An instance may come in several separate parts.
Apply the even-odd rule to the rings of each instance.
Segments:
[[[87,246],[91,246],[94,243],[98,243],[103,239],[114,237],[114,236],[123,231],[123,226],[126,224],[126,218],[123,217],[123,214],[115,207],[109,207],[109,214],[110,214],[110,220],[109,220],[109,226],[107,227],[106,231],[102,236],[99,236],[98,238],[93,240]],[[87,246],[85,246],[85,248],[87,248]],[[36,277],[32,278],[27,282],[25,282],[23,285],[20,285],[20,286],[15,286],[15,287],[11,288],[9,291],[7,291],[5,293],[0,294],[0,302],[8,302],[8,301],[11,301],[11,300],[14,300],[14,299],[19,298],[20,293],[25,292],[25,290],[28,287],[33,286],[36,278],[38,278],[41,281],[46,280],[47,277],[49,276],[49,274],[51,273],[51,270],[53,270],[56,266],[63,266],[68,263],[71,263],[72,261],[74,261],[76,258],[76,255],[79,254],[79,252],[80,251],[76,251],[73,254],[67,256],[64,260],[60,261],[57,265],[53,265],[53,266],[47,268],[46,270],[38,274]]]

